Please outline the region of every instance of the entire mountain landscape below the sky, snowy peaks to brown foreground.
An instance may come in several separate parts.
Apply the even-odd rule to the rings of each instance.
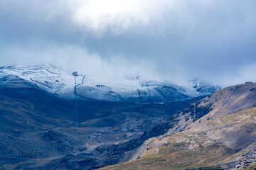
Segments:
[[[0,169],[256,166],[256,83],[75,79],[53,65],[0,68]]]

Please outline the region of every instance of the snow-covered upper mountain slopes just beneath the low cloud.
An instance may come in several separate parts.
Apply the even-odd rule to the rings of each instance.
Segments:
[[[181,101],[205,96],[220,89],[202,80],[186,81],[179,86],[167,81],[151,81],[140,77],[120,79],[96,79],[80,75],[75,79],[53,64],[34,66],[0,67],[0,77],[16,75],[36,84],[39,88],[62,98],[91,98],[106,101],[130,101],[136,103]]]

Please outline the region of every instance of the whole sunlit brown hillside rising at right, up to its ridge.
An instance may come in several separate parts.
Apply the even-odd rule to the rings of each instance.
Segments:
[[[129,152],[134,160],[102,169],[253,169],[255,89],[230,86],[192,103],[166,121],[168,132]]]

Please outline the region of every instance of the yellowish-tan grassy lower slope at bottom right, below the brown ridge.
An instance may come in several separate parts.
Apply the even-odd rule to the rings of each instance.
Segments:
[[[256,108],[208,120],[197,128],[149,142],[144,156],[102,169],[191,169],[242,153],[256,137]],[[167,145],[167,146],[166,146]]]

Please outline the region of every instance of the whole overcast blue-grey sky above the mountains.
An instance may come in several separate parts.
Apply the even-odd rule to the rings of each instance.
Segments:
[[[255,0],[0,0],[0,65],[256,81]]]

